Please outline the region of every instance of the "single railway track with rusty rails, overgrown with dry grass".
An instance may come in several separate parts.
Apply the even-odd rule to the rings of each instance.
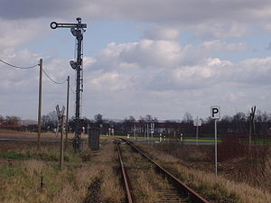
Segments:
[[[128,203],[210,203],[208,200],[202,198],[197,192],[182,183],[181,180],[174,177],[169,171],[166,171],[144,152],[140,151],[133,143],[129,143],[126,140],[122,140],[122,142],[117,141],[117,152]],[[140,155],[136,156],[135,152]],[[141,180],[143,181],[142,183],[140,180],[138,182],[138,177],[143,173],[145,173],[146,180]],[[142,194],[144,191],[136,189],[138,185],[144,187],[145,184],[148,185],[145,190],[152,190],[154,193],[153,197],[145,197],[145,195]],[[144,198],[151,199],[148,200]]]

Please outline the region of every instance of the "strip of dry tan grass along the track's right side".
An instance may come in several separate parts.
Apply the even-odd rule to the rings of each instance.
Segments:
[[[235,182],[213,173],[188,168],[180,163],[175,156],[150,147],[140,145],[145,152],[151,154],[166,169],[186,183],[192,189],[197,190],[203,197],[211,202],[227,203],[263,203],[271,202],[270,190],[258,189],[244,182]],[[172,148],[173,149],[173,148]]]

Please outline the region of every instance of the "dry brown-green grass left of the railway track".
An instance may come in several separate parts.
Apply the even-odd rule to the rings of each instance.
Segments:
[[[69,148],[61,171],[58,145],[43,145],[42,151],[36,152],[32,144],[3,143],[0,147],[0,202],[82,202],[88,196],[89,185],[97,178],[102,180],[100,201],[123,202],[124,192],[114,170],[117,165],[114,144],[101,144],[99,152],[74,153]]]

